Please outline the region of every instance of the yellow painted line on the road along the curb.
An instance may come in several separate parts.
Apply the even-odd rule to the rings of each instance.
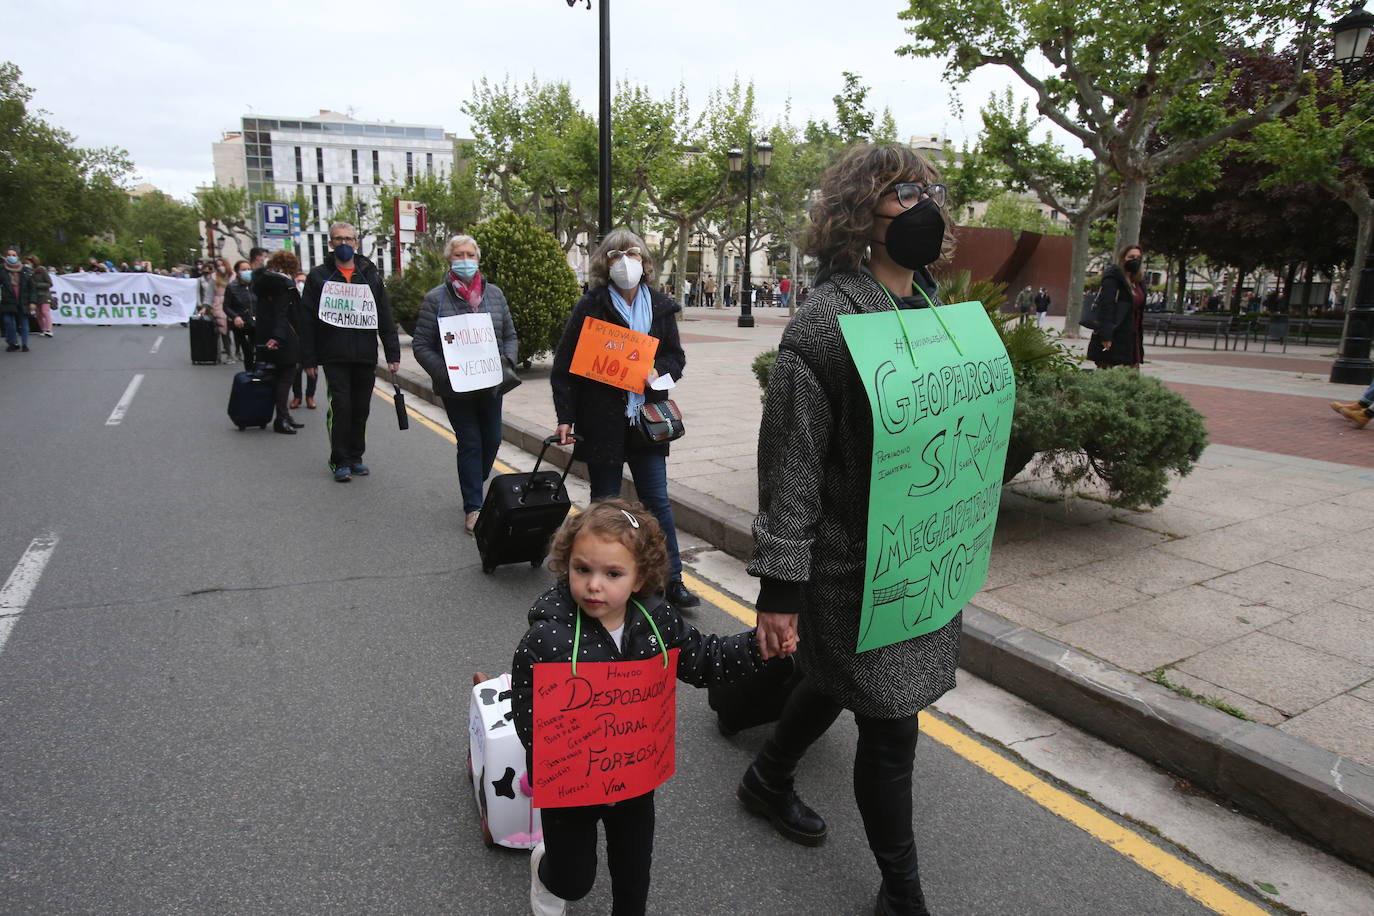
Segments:
[[[378,390],[376,393],[385,400],[392,401],[392,397],[385,391]],[[458,442],[449,430],[416,413],[409,407],[407,407],[407,413],[449,442]],[[517,472],[515,468],[504,461],[497,461],[496,467],[502,474]],[[574,508],[573,511],[576,512],[577,509]],[[683,573],[683,580],[687,582],[687,588],[702,599],[710,602],[746,626],[754,625],[753,608],[736,602],[734,597],[690,573]],[[1178,887],[1212,912],[1221,913],[1221,916],[1264,916],[1265,911],[1263,908],[1245,900],[1210,875],[1205,875],[1178,856],[1164,851],[1135,831],[1101,814],[1062,788],[1046,783],[1028,769],[1002,757],[991,747],[976,742],[952,725],[933,715],[923,714],[921,717],[921,731],[989,776],[1017,790],[1051,814],[1069,821],[1094,839],[1121,853],[1164,883]]]

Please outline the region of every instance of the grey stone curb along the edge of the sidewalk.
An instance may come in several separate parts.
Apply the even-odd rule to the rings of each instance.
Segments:
[[[389,378],[378,367],[379,378]],[[429,379],[401,369],[405,391],[442,408]],[[547,430],[503,417],[503,438],[537,455]],[[545,456],[566,467],[572,453]],[[585,475],[585,466],[570,471]],[[625,478],[627,494],[633,483]],[[669,494],[673,519],[747,560],[753,515],[687,486]],[[960,666],[1091,735],[1131,751],[1232,805],[1374,872],[1374,769],[1270,725],[1179,696],[1134,672],[1011,623],[970,603]]]

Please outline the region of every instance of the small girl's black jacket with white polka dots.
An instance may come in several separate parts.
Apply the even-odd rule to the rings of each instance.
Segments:
[[[682,618],[677,608],[662,597],[643,597],[639,603],[654,618],[666,648],[677,651],[677,680],[692,687],[724,684],[745,677],[760,665],[758,644],[754,630],[734,636],[702,633]],[[578,614],[567,585],[558,584],[548,589],[529,608],[529,630],[526,630],[515,658],[511,661],[511,709],[515,713],[515,731],[525,743],[526,755],[534,742],[534,665],[537,662],[573,661],[573,622]],[[578,662],[618,662],[654,658],[664,647],[658,644],[654,629],[629,603],[625,614],[624,650],[616,648],[616,641],[598,621],[583,614],[583,637]],[[529,761],[533,772],[533,762]]]

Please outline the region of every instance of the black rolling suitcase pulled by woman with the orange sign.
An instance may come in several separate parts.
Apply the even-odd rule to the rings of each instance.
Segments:
[[[539,566],[548,555],[548,541],[572,508],[565,486],[572,461],[562,474],[539,470],[544,452],[556,442],[556,435],[544,439],[529,474],[499,474],[488,485],[482,512],[473,529],[484,573],[506,563]]]

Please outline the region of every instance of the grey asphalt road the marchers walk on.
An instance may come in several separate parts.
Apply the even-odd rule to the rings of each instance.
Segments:
[[[481,843],[466,725],[548,574],[482,574],[452,445],[375,400],[374,472],[338,485],[324,411],[235,430],[231,368],[192,367],[184,328],[30,345],[0,358],[0,578],[56,547],[0,648],[0,912],[528,912],[528,856]],[[852,722],[805,762],[831,834],[802,849],[734,801],[761,729],[721,739],[679,696],[651,912],[871,912]],[[927,739],[916,828],[941,916],[1209,912]],[[607,909],[603,861],[572,912]]]

